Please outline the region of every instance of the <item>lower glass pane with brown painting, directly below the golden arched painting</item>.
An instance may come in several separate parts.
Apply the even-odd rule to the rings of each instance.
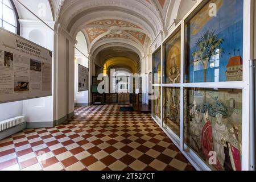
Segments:
[[[180,137],[180,88],[164,88],[163,120],[166,127]]]

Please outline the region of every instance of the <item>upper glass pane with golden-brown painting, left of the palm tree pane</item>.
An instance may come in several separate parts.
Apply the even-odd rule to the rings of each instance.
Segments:
[[[163,84],[180,83],[181,31],[177,32],[164,46]]]

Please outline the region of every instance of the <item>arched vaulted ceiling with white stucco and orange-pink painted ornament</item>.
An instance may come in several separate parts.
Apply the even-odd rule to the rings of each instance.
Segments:
[[[49,1],[61,27],[73,37],[80,31],[84,33],[90,55],[106,44],[113,44],[132,49],[141,58],[155,38],[166,32],[178,17],[180,6],[195,3],[193,0]]]

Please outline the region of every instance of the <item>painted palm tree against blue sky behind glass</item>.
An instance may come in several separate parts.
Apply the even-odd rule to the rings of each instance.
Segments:
[[[224,42],[224,39],[219,39],[218,35],[215,34],[215,31],[206,31],[204,35],[201,36],[196,42],[196,47],[198,48],[195,52],[192,53],[194,58],[193,64],[201,64],[204,67],[204,82],[207,82],[207,67],[210,60],[215,54],[216,49],[220,49],[220,54],[223,52],[223,49],[220,48],[221,44]]]

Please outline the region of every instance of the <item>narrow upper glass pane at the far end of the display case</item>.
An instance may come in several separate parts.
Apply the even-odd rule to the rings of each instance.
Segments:
[[[153,55],[154,84],[161,84],[161,49]]]

